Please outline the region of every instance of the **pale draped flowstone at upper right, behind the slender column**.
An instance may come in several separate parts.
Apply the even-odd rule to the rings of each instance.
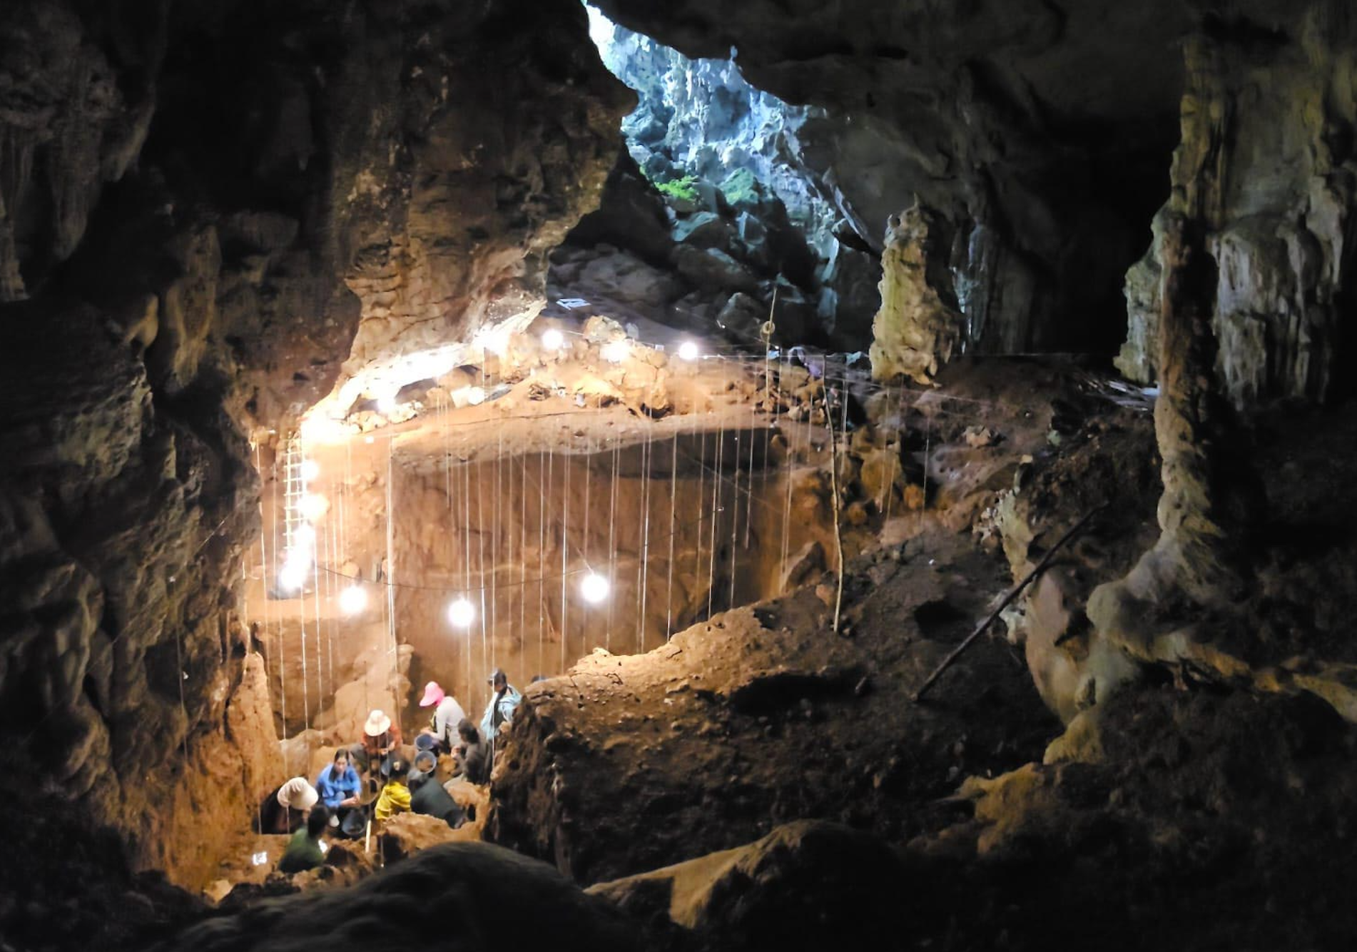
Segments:
[[[1353,287],[1353,24],[1308,4],[1285,24],[1213,19],[1185,48],[1182,144],[1164,213],[1202,230],[1216,278],[1215,371],[1238,406],[1346,390],[1342,310]],[[1164,268],[1162,228],[1126,278],[1118,367],[1153,382]]]

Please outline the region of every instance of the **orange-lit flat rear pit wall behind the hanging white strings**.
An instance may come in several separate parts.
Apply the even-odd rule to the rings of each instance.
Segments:
[[[438,680],[479,712],[495,667],[521,687],[594,648],[650,651],[708,610],[776,595],[784,549],[817,539],[833,551],[828,494],[791,500],[787,456],[764,429],[645,425],[649,443],[451,464],[398,454],[395,619],[411,680]],[[590,572],[609,583],[594,604],[581,589]],[[475,608],[465,627],[448,618],[459,598]]]

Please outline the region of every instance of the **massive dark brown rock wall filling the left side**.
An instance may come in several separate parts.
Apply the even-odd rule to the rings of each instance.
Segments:
[[[247,431],[330,391],[387,295],[445,334],[517,311],[626,92],[570,3],[24,0],[0,41],[5,784],[195,884],[280,780],[235,614]]]

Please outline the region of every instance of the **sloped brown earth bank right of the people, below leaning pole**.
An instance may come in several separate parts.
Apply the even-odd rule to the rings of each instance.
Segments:
[[[1003,642],[966,656],[932,703],[908,699],[1004,587],[1003,566],[951,534],[882,555],[845,585],[851,637],[806,588],[529,687],[489,835],[581,883],[805,816],[904,841],[962,777],[1038,758],[1058,724]]]

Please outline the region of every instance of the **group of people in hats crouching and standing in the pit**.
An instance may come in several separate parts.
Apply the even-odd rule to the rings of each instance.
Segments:
[[[265,797],[256,818],[259,832],[293,834],[278,869],[300,872],[324,862],[320,838],[327,827],[361,834],[368,823],[366,800],[379,784],[373,820],[417,812],[437,816],[453,828],[461,826],[464,811],[438,782],[438,756],[453,758],[453,777],[472,784],[489,782],[495,739],[522,701],[502,668],[495,668],[486,680],[493,693],[479,728],[457,699],[432,680],[425,684],[419,706],[433,708],[433,712],[429,727],[415,737],[413,759],[402,744],[400,727],[384,712],[373,710],[364,724],[362,740],[335,750],[334,759],[320,770],[313,785],[305,777],[293,777]],[[369,797],[364,797],[365,789]],[[349,816],[357,818],[357,823]]]

